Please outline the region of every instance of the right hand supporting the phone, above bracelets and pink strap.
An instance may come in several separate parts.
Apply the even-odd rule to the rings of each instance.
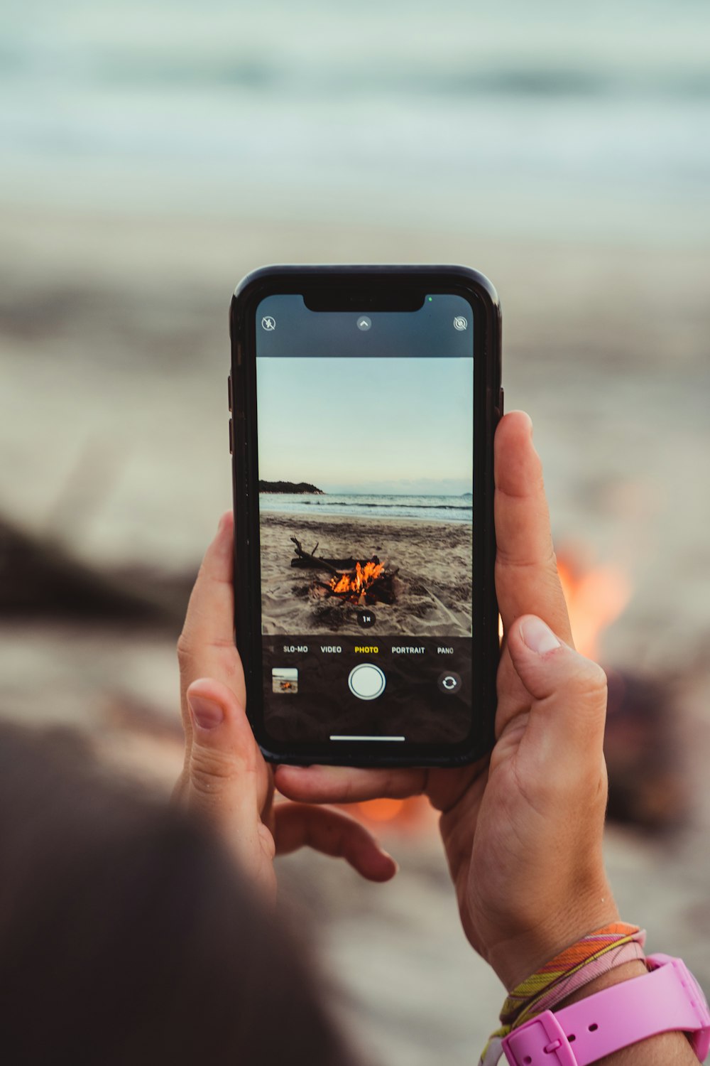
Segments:
[[[572,646],[542,467],[522,411],[498,426],[495,467],[506,636],[490,759],[456,770],[283,765],[275,780],[284,795],[315,803],[426,792],[442,812],[466,936],[512,988],[618,914],[601,858],[606,677]]]

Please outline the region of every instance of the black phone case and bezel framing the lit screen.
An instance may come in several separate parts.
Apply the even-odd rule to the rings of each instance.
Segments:
[[[483,514],[474,537],[474,617],[479,624],[474,668],[474,729],[465,742],[445,750],[430,745],[361,744],[357,749],[283,748],[263,726],[259,473],[257,456],[257,305],[269,293],[308,292],[312,309],[414,309],[418,294],[459,293],[475,310],[474,514]],[[419,300],[420,303],[420,300]],[[482,312],[482,314],[480,313]],[[230,307],[232,350],[229,378],[230,451],[234,498],[234,637],[244,664],[247,714],[266,759],[309,765],[455,766],[485,755],[494,742],[496,673],[499,657],[493,527],[493,436],[502,416],[500,305],[484,275],[459,265],[273,265],[248,274]],[[482,387],[481,387],[482,386]],[[476,519],[475,519],[476,521]],[[479,584],[476,578],[479,578]],[[325,745],[324,745],[325,747]]]

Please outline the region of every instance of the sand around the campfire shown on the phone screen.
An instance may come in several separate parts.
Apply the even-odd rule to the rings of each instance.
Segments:
[[[327,570],[292,567],[292,536],[303,549],[317,544],[326,559],[368,560],[397,570],[393,603],[376,603],[378,634],[469,636],[472,618],[472,529],[467,522],[414,518],[339,518],[262,515],[262,629],[275,633],[362,635],[358,604],[320,587]]]

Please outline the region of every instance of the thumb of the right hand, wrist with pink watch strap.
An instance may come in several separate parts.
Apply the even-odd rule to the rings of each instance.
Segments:
[[[535,615],[523,615],[508,634],[515,673],[530,696],[526,732],[541,753],[588,761],[600,756],[607,711],[607,675],[563,644]]]

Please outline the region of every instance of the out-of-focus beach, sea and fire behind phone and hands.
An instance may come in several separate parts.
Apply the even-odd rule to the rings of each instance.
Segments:
[[[0,712],[167,789],[175,640],[231,502],[234,285],[467,263],[610,675],[612,883],[708,988],[708,5],[5,0],[3,22]],[[308,855],[285,891],[367,1053],[470,1063],[502,989],[435,820],[360,814],[399,889]]]

